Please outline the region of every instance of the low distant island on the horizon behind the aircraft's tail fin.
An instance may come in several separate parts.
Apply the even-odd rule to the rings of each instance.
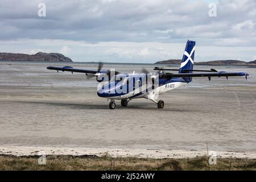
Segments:
[[[158,61],[155,64],[180,64],[180,59],[170,59],[165,61]],[[245,62],[245,61],[239,61],[239,60],[217,60],[217,61],[205,61],[205,62],[195,62],[195,64],[200,65],[248,65],[248,66],[254,66],[256,65],[256,60]]]

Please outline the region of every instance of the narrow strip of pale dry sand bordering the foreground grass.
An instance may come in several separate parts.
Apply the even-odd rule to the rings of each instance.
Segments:
[[[213,153],[214,152],[214,153]],[[152,159],[184,159],[202,156],[216,156],[227,159],[256,159],[255,152],[237,151],[197,151],[197,150],[143,150],[143,149],[108,149],[108,148],[63,148],[63,147],[1,147],[0,155],[40,156],[40,155],[72,155],[98,156],[113,158],[152,158]]]

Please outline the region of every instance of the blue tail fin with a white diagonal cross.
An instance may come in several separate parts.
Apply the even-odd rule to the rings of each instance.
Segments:
[[[188,40],[185,52],[181,61],[179,73],[192,73],[196,42]],[[192,77],[184,78],[185,81],[192,81]]]

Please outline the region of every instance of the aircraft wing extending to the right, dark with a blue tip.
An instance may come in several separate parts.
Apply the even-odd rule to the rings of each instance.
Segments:
[[[229,76],[249,76],[248,73],[244,72],[213,72],[213,73],[163,73],[167,77],[229,77]]]

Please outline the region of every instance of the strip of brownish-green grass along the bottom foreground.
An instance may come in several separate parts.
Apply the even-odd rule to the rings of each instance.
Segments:
[[[112,158],[97,156],[55,156],[38,164],[38,156],[0,155],[0,170],[256,170],[256,159],[217,159],[208,166],[208,157],[193,159]]]

